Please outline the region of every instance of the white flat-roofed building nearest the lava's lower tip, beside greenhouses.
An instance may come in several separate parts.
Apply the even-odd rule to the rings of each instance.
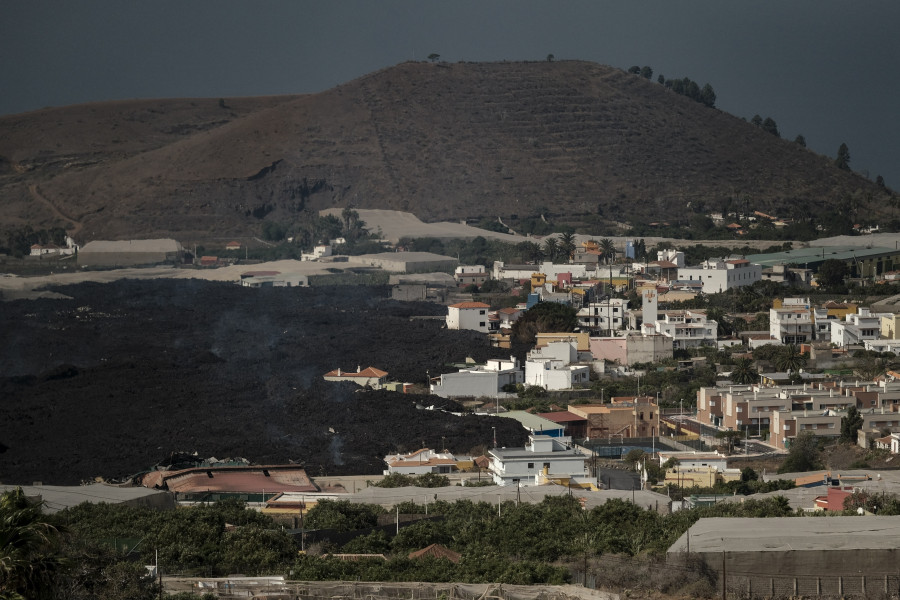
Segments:
[[[490,470],[497,485],[537,485],[552,478],[585,479],[585,456],[566,444],[531,435],[524,448],[494,448]]]

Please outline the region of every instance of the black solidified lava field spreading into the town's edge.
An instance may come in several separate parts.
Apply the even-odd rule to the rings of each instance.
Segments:
[[[489,443],[492,426],[505,445],[525,441],[509,419],[416,408],[455,406],[435,396],[322,380],[372,365],[424,383],[451,361],[494,355],[483,336],[409,320],[440,314],[436,305],[362,287],[193,280],[58,291],[72,299],[8,302],[0,313],[3,483],[123,477],[176,451],[380,473],[385,454],[441,437],[457,452]]]

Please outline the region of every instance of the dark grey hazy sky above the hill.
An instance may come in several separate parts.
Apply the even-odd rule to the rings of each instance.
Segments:
[[[318,92],[432,52],[581,59],[710,83],[900,189],[900,1],[2,0],[0,114]]]

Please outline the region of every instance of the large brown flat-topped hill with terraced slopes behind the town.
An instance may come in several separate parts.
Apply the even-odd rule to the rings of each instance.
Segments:
[[[82,242],[253,235],[263,219],[348,205],[425,221],[651,222],[728,201],[852,219],[887,215],[893,196],[664,85],[581,61],[409,62],[303,96],[0,118],[4,221],[62,225]]]

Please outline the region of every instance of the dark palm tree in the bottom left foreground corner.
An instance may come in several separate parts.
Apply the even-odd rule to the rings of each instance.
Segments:
[[[22,488],[0,496],[0,598],[46,598],[63,564],[62,531]]]

